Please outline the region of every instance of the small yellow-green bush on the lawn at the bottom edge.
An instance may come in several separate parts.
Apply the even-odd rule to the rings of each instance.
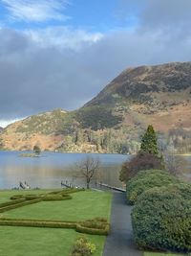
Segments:
[[[75,241],[71,256],[90,256],[95,251],[96,245],[90,243],[85,237],[81,237]]]

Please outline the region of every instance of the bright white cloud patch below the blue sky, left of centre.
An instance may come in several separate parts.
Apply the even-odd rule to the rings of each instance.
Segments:
[[[70,27],[49,27],[35,31],[28,30],[24,33],[42,48],[56,47],[74,51],[80,50],[85,45],[95,44],[103,37],[101,33],[89,33]]]

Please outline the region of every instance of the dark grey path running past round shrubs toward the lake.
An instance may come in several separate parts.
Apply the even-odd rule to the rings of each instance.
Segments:
[[[111,234],[106,238],[103,256],[141,256],[133,241],[131,206],[124,193],[114,193],[111,213]]]

